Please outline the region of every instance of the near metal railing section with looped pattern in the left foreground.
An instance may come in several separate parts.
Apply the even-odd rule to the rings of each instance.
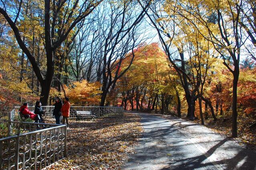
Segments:
[[[0,139],[0,170],[41,170],[67,155],[66,125],[11,123],[11,134],[17,129],[24,133]],[[44,129],[36,129],[43,125]]]

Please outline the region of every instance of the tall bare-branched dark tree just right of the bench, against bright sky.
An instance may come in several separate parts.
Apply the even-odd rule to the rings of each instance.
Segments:
[[[117,80],[129,69],[127,67],[127,69],[119,72],[122,61],[127,57],[126,54],[140,46],[146,39],[141,38],[144,28],[139,26],[145,12],[139,10],[137,3],[116,1],[114,3],[108,2],[108,6],[108,10],[103,10],[104,22],[99,23],[102,25],[101,34],[103,34],[102,41],[104,42],[102,46],[102,64],[100,66],[100,74],[102,74],[100,106],[105,105],[107,94],[114,90]],[[144,7],[147,9],[148,6],[149,2]],[[134,55],[132,54],[131,57],[133,58]],[[133,59],[131,63],[132,61]],[[113,73],[113,70],[115,70],[115,73]]]

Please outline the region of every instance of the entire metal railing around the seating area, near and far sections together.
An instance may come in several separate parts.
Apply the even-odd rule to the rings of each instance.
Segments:
[[[54,106],[41,106],[46,119],[54,119]],[[67,126],[18,122],[20,107],[9,114],[8,137],[0,139],[0,170],[37,170],[67,155]],[[34,106],[29,110],[34,111]],[[70,118],[78,111],[90,111],[96,117],[123,117],[121,107],[71,106]],[[46,126],[39,129],[37,126]]]

